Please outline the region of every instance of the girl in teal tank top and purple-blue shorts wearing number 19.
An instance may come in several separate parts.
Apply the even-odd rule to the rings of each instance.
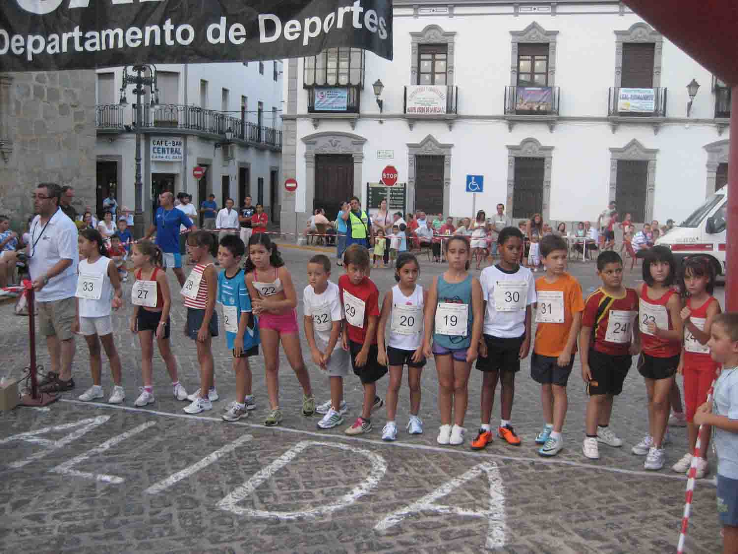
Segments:
[[[426,357],[434,356],[438,372],[441,428],[437,442],[461,445],[469,402],[469,372],[482,337],[482,287],[469,273],[469,239],[455,235],[444,247],[449,269],[433,279],[428,293],[423,349]]]

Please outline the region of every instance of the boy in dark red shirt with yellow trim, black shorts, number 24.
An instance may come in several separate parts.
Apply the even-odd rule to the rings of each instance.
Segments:
[[[641,349],[641,335],[634,325],[638,295],[623,287],[623,260],[618,253],[605,250],[598,256],[597,275],[602,286],[587,298],[579,332],[582,379],[590,394],[582,452],[589,459],[599,459],[598,442],[623,445],[608,428],[613,397],[623,390],[631,356]]]

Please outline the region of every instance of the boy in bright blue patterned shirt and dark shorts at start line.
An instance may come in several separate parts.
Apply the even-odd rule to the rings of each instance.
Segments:
[[[223,305],[223,326],[228,348],[233,353],[235,401],[221,417],[238,421],[256,408],[251,394],[251,368],[248,358],[259,353],[259,328],[251,312],[251,297],[246,289],[241,258],[246,248],[238,236],[226,235],[218,247],[218,261],[223,271],[218,274],[218,303]]]

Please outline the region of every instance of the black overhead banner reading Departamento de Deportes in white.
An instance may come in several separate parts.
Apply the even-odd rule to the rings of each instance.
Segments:
[[[279,60],[331,47],[391,60],[391,0],[4,0],[0,9],[0,72]]]

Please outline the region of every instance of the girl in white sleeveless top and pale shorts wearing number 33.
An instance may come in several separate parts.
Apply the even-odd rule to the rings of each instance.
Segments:
[[[103,343],[110,371],[113,374],[113,394],[108,400],[111,404],[120,404],[125,400],[125,392],[120,384],[120,357],[115,348],[111,308],[117,310],[123,306],[123,290],[120,288],[120,276],[115,264],[111,263],[105,247],[105,239],[100,231],[83,229],[80,231],[80,261],[77,271],[77,314],[72,330],[84,335],[90,351],[90,372],[92,386],[79,399],[85,402],[102,398],[103,386],[100,368],[103,365],[100,356],[100,343]]]

